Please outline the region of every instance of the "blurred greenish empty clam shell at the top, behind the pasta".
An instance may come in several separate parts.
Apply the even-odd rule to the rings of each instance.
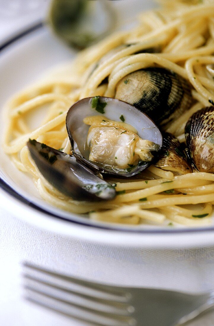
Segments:
[[[115,16],[108,0],[52,0],[48,22],[58,37],[83,49],[112,32]]]

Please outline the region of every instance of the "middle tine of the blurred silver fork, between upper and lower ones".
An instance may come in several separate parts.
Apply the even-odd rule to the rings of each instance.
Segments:
[[[134,311],[134,308],[128,304],[118,302],[114,303],[113,301],[100,299],[97,300],[94,297],[91,298],[89,296],[79,295],[66,289],[59,288],[54,284],[30,278],[28,275],[24,275],[24,287],[37,292],[42,292],[48,296],[54,296],[59,300],[69,302],[76,306],[92,309],[93,311],[99,311],[102,313],[129,316],[130,313]]]

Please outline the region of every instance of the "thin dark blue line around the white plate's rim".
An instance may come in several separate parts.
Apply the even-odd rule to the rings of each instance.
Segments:
[[[38,22],[34,25],[32,25],[30,28],[26,29],[20,34],[17,34],[14,37],[11,37],[8,41],[0,45],[0,52],[7,48],[9,45],[12,43],[20,40],[22,37],[25,37],[26,35],[33,34],[33,32],[37,31],[38,29],[43,29],[45,28],[45,24],[43,22]],[[50,213],[42,208],[40,208],[38,205],[34,204],[33,202],[27,200],[23,196],[21,196],[18,192],[16,192],[14,189],[12,189],[1,177],[0,177],[0,188],[2,188],[5,192],[7,192],[10,196],[16,198],[17,200],[21,201],[28,207],[31,207],[35,209],[38,212],[44,213],[48,216],[61,219],[64,221],[69,221],[74,224],[79,224],[83,226],[87,226],[90,228],[95,228],[95,229],[102,229],[102,230],[112,230],[112,231],[120,231],[120,232],[129,232],[129,233],[142,233],[142,234],[172,234],[172,233],[192,233],[192,232],[201,232],[201,231],[214,231],[214,227],[204,227],[204,228],[186,228],[186,229],[172,229],[169,227],[169,229],[164,229],[164,230],[137,230],[137,229],[130,229],[130,228],[120,228],[118,226],[114,227],[114,224],[110,225],[92,225],[90,222],[84,223],[82,221],[76,221],[75,219],[68,219],[67,217],[59,216],[57,214]],[[86,219],[87,221],[87,219]],[[88,220],[90,221],[90,220]]]

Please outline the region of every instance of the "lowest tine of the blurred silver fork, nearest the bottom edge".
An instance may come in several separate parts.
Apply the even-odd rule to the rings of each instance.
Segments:
[[[98,314],[89,309],[80,308],[58,298],[48,296],[34,289],[26,289],[25,298],[28,301],[54,310],[72,318],[80,319],[101,326],[135,326],[136,321],[131,317]]]

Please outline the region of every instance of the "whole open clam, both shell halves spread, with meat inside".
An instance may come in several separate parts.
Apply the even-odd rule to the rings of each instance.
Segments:
[[[131,123],[131,125],[129,124]],[[66,117],[71,155],[36,140],[27,143],[44,178],[77,200],[111,200],[115,188],[102,173],[129,177],[151,164],[162,146],[158,127],[144,113],[108,97],[84,98]]]

